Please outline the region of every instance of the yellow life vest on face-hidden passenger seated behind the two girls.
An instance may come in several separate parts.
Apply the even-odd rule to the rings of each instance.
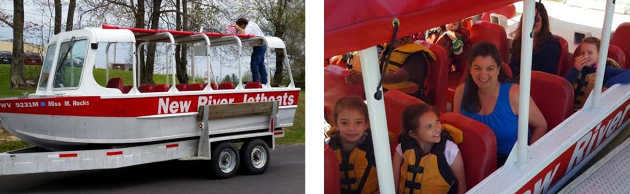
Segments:
[[[429,50],[429,48],[417,43],[404,44],[392,50],[391,56],[389,57],[389,65],[387,66],[387,71],[385,72],[385,74],[392,74],[398,71],[398,69],[403,67],[405,60],[407,60],[407,57],[409,57],[410,54],[414,54],[416,52],[423,52],[425,59],[427,59],[427,57],[430,57],[431,61],[435,60],[435,55],[433,54],[433,52],[431,52],[431,50]],[[386,57],[385,51],[381,52],[381,59],[383,59],[384,57]],[[428,65],[429,64],[427,62],[427,67]],[[383,84],[383,88],[385,89],[397,89],[399,91],[403,91],[404,93],[409,94],[418,92],[418,89],[420,87],[421,86],[418,86],[418,84],[413,83],[410,80],[396,84]]]

